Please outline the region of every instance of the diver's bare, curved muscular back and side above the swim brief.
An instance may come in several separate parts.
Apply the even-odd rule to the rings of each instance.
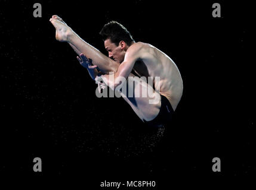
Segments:
[[[169,100],[175,110],[183,92],[180,71],[161,50],[147,43],[137,42],[137,45],[141,46],[141,53],[140,59],[134,64],[134,71],[140,77],[160,77],[160,81],[153,81],[153,87]]]

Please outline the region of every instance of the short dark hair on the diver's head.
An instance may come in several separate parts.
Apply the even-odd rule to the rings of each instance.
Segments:
[[[116,46],[118,46],[121,41],[127,43],[128,46],[131,46],[132,42],[134,42],[129,31],[116,21],[110,21],[105,24],[100,31],[100,35],[103,37],[104,41],[110,39]]]

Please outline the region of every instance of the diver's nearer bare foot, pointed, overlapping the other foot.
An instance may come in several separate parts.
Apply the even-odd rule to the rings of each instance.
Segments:
[[[66,23],[63,23],[55,18],[51,18],[50,22],[56,29],[56,40],[60,42],[68,42],[69,37],[73,34],[72,29],[70,29],[70,27],[68,27]]]

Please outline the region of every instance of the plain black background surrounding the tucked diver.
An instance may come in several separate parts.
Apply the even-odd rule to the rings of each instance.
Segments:
[[[33,17],[36,2],[42,18]],[[1,1],[1,173],[82,176],[91,189],[104,180],[155,180],[161,189],[174,176],[255,174],[252,5],[218,1],[213,18],[213,3]],[[183,97],[153,153],[134,153],[140,119],[124,100],[95,96],[76,53],[55,40],[54,14],[105,54],[98,32],[119,21],[177,64]],[[212,172],[214,157],[221,172]]]

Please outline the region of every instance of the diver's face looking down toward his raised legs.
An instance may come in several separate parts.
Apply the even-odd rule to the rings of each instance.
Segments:
[[[109,58],[119,62],[119,64],[124,61],[125,51],[122,45],[122,41],[118,46],[116,46],[116,44],[112,43],[110,39],[107,39],[104,41],[104,46],[107,52],[109,52]]]

